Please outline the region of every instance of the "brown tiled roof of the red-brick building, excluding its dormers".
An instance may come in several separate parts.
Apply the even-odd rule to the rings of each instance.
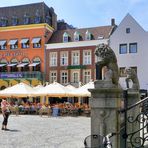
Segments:
[[[63,42],[63,34],[66,32],[70,40],[69,42],[74,41],[74,33],[77,31],[80,34],[80,40],[85,41],[86,32],[90,32],[92,34],[92,40],[97,40],[98,37],[103,37],[103,39],[108,39],[111,35],[114,26],[100,26],[100,27],[92,27],[92,28],[80,28],[80,29],[66,29],[66,30],[57,30],[53,33],[52,37],[48,41],[48,43],[62,43]]]

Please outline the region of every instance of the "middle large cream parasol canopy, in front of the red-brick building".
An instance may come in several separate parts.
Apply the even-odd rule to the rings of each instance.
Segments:
[[[35,96],[49,96],[49,97],[67,97],[69,96],[68,89],[63,85],[53,82],[39,89],[34,93]]]

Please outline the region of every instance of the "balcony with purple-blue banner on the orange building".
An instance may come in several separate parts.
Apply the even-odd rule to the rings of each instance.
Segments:
[[[0,79],[38,79],[43,80],[44,75],[39,71],[32,72],[1,72]]]

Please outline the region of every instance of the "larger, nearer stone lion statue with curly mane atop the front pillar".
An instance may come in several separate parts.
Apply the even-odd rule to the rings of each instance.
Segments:
[[[112,83],[118,85],[119,81],[119,73],[118,73],[118,65],[117,65],[117,58],[114,51],[106,44],[99,44],[95,49],[95,55],[98,57],[98,61],[96,63],[99,69],[106,66],[107,69],[110,71],[110,79]]]

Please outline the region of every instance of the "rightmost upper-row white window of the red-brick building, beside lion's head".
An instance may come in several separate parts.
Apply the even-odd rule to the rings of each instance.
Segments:
[[[83,64],[84,65],[90,65],[91,64],[91,51],[85,50],[83,52]]]

